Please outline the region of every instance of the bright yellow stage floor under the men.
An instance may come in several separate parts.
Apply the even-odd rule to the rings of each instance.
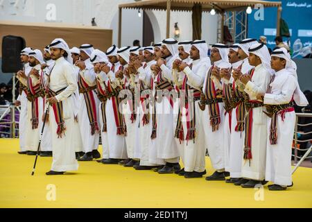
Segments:
[[[0,207],[312,207],[312,169],[304,167],[295,172],[294,187],[269,191],[95,160],[80,162],[75,173],[46,176],[51,157],[38,157],[31,176],[35,156],[17,151],[18,139],[0,139]],[[213,172],[209,158],[207,172]]]

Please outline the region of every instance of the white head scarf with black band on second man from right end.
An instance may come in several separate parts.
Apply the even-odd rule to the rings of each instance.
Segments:
[[[273,69],[271,69],[271,56],[268,51],[268,47],[263,43],[256,43],[250,46],[248,49],[249,53],[253,53],[256,56],[259,56],[261,59],[261,63],[263,67],[272,75],[275,73]]]

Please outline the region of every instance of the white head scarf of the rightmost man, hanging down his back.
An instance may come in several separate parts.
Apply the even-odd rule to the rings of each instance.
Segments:
[[[293,60],[291,60],[291,55],[288,53],[287,49],[285,48],[279,48],[275,49],[275,51],[272,51],[271,57],[279,57],[284,58],[286,60],[286,66],[285,69],[289,71],[289,73],[295,77],[296,80],[296,89],[295,93],[293,95],[293,99],[295,103],[299,106],[306,106],[309,104],[308,100],[306,99],[306,96],[304,96],[304,93],[301,91],[299,83],[298,83],[298,77],[297,77],[297,65]]]

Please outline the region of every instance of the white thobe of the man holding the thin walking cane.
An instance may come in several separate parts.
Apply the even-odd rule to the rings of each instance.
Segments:
[[[55,66],[50,74],[49,87],[54,92],[64,89],[55,99],[62,101],[63,120],[66,127],[65,135],[58,137],[56,130],[58,124],[55,121],[53,108],[50,107],[49,122],[51,123],[51,137],[53,149],[52,171],[75,171],[78,170],[78,162],[74,147],[74,110],[73,92],[78,88],[76,78],[73,76],[73,66],[64,57],[55,60]]]

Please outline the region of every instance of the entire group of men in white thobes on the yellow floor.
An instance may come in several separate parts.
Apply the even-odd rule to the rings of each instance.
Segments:
[[[214,173],[206,180],[293,185],[293,104],[308,102],[284,48],[270,55],[246,39],[213,44],[208,56],[205,40],[168,38],[103,52],[92,44],[69,49],[57,38],[44,55],[25,48],[21,60],[19,153],[36,155],[41,140],[40,155],[53,155],[47,175],[99,159],[202,178],[208,153]]]

